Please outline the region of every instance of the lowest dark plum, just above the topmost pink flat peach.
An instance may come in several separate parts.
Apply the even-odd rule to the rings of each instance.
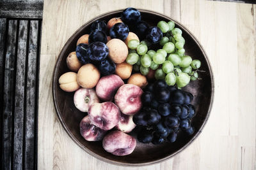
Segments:
[[[103,76],[107,76],[109,74],[115,73],[116,64],[113,62],[113,60],[106,58],[99,62],[98,68]]]

